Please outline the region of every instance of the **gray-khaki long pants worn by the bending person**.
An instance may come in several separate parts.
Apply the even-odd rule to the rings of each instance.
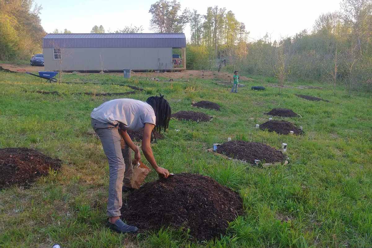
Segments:
[[[119,126],[92,118],[92,128],[99,136],[109,161],[109,199],[107,215],[120,216],[122,186],[131,187],[132,151],[119,133]]]

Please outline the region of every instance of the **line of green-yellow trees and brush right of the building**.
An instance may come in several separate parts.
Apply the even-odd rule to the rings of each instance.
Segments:
[[[323,81],[353,90],[372,91],[372,1],[342,0],[340,9],[321,14],[309,32],[273,40],[269,34],[247,42],[244,23],[231,11],[209,7],[190,15],[187,68],[217,69],[276,77],[279,90],[288,80]]]

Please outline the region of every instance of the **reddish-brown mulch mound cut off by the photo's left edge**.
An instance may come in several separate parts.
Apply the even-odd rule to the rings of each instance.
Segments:
[[[49,167],[59,170],[61,162],[34,149],[0,149],[0,189],[13,184],[28,186],[38,177],[48,175]]]

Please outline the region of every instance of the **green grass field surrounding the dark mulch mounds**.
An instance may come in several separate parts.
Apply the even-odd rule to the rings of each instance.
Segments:
[[[261,78],[242,82],[238,94],[211,80],[155,82],[124,80],[116,75],[65,74],[65,81],[99,84],[49,84],[26,74],[0,72],[0,148],[31,147],[60,158],[62,169],[40,178],[30,189],[0,191],[0,247],[372,247],[372,100],[370,94],[346,96],[343,90],[267,87],[252,91]],[[272,83],[272,79],[265,79]],[[166,139],[152,145],[158,164],[171,173],[209,175],[239,191],[245,215],[230,223],[228,235],[193,243],[185,230],[137,236],[118,235],[105,227],[108,162],[90,127],[90,112],[115,97],[71,92],[125,92],[129,84],[145,91],[139,100],[165,94],[172,112],[193,110],[216,117],[209,123],[171,119]],[[298,83],[299,84],[299,83]],[[292,86],[298,85],[291,83]],[[301,83],[302,85],[304,83]],[[320,85],[323,86],[324,85]],[[327,87],[327,86],[325,86]],[[62,96],[23,90],[63,92]],[[310,102],[308,94],[327,102]],[[118,97],[116,97],[118,98]],[[195,109],[192,101],[209,100],[221,111]],[[294,110],[305,135],[257,131],[273,107]],[[273,118],[280,119],[280,118]],[[176,132],[175,129],[180,129]],[[227,138],[288,144],[290,162],[259,168],[216,157],[207,148]],[[146,179],[157,178],[154,171]],[[166,200],[166,199],[165,199]],[[123,200],[124,201],[124,200]]]

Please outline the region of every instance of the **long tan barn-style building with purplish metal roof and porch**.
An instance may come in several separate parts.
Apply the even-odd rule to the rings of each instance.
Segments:
[[[185,70],[184,33],[69,33],[43,38],[45,70]],[[182,51],[182,62],[172,49]]]

